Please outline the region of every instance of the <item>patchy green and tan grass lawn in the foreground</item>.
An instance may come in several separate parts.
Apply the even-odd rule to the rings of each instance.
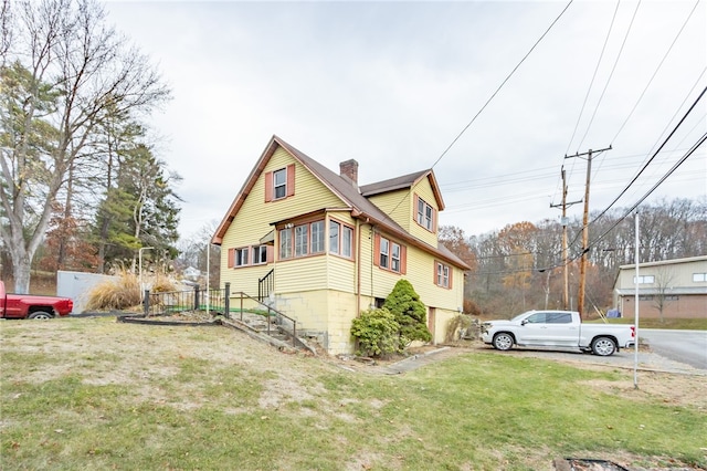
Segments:
[[[473,349],[387,376],[223,327],[0,329],[8,470],[544,470],[570,456],[707,467],[705,377],[634,390],[630,371]]]

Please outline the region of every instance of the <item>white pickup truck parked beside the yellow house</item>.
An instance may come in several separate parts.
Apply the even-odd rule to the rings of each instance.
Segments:
[[[514,345],[562,347],[609,356],[634,345],[635,327],[584,324],[574,311],[528,311],[510,321],[484,322],[482,339],[499,350]]]

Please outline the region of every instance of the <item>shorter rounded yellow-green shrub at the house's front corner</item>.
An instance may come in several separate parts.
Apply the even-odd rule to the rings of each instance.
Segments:
[[[358,354],[383,356],[398,349],[400,325],[387,308],[363,311],[351,323],[351,335],[358,341]]]

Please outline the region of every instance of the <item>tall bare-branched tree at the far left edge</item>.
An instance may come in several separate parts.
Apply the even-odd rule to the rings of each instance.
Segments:
[[[2,27],[0,236],[25,293],[53,202],[92,165],[97,125],[116,109],[148,113],[169,90],[93,0],[6,1]]]

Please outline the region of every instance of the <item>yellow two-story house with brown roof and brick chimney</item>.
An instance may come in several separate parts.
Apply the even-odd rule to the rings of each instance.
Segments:
[[[359,187],[356,160],[337,175],[273,136],[212,239],[221,282],[339,354],[354,352],[351,321],[404,278],[439,343],[462,308],[468,270],[437,241],[443,209],[431,169]]]

